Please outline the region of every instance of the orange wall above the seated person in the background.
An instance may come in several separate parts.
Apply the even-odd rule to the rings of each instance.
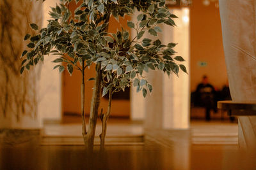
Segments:
[[[219,8],[211,3],[204,6],[195,0],[190,8],[190,44],[191,44],[191,90],[207,74],[214,87],[221,87],[227,81],[227,70],[222,45]],[[206,67],[199,67],[198,62],[207,62]]]

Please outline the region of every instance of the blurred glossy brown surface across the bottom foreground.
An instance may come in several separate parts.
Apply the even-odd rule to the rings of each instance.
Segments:
[[[108,146],[104,153],[88,155],[83,146],[2,148],[0,169],[256,169],[255,154],[239,152],[236,146],[196,145],[185,154],[179,150]]]

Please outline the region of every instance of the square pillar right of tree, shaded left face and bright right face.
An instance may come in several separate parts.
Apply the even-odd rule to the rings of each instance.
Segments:
[[[162,25],[160,40],[166,44],[178,43],[176,55],[184,57],[182,62],[189,71],[189,9],[172,10],[179,17],[177,27]],[[174,56],[174,57],[175,57]],[[181,64],[181,63],[180,63]],[[189,128],[189,75],[180,71],[168,75],[158,71],[148,73],[153,91],[145,103],[145,127],[147,129],[188,129]]]

